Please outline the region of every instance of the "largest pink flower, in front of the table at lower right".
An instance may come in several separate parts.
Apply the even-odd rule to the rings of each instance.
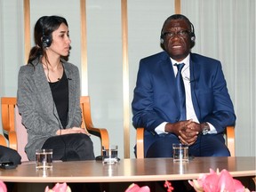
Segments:
[[[200,174],[197,180],[188,180],[188,183],[195,188],[197,192],[244,192],[245,189],[239,180],[232,178],[227,170],[214,172],[210,169],[209,174]]]

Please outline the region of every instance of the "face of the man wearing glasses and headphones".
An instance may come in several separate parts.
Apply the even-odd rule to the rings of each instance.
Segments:
[[[173,60],[184,60],[190,52],[190,24],[186,20],[169,20],[163,34],[164,50]]]

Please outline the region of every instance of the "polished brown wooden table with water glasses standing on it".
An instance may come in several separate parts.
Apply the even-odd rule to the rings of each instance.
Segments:
[[[52,170],[36,171],[35,163],[0,170],[0,180],[12,182],[130,182],[191,180],[209,169],[228,170],[233,177],[255,176],[255,157],[195,157],[188,163],[172,158],[124,159],[118,164],[96,161],[56,162]]]

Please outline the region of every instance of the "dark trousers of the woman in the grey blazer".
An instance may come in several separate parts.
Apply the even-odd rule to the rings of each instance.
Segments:
[[[42,148],[53,149],[53,160],[83,161],[94,160],[93,144],[83,133],[58,135],[45,140]]]

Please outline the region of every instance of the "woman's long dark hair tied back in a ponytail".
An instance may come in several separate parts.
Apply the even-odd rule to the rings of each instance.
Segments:
[[[45,53],[45,47],[42,42],[43,36],[49,36],[52,39],[52,32],[60,27],[60,24],[64,23],[68,26],[68,22],[65,18],[60,16],[43,16],[36,21],[34,28],[34,41],[35,46],[31,48],[28,56],[28,63],[32,64],[33,60],[36,60],[41,55],[47,60],[47,55]]]

